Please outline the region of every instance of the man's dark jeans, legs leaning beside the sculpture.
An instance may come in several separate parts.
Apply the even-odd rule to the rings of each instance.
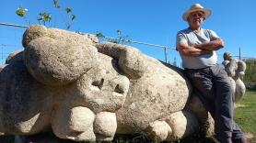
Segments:
[[[218,137],[241,138],[243,133],[233,120],[235,93],[224,66],[192,70],[185,69],[186,76],[194,86],[194,92],[215,119],[215,134]]]

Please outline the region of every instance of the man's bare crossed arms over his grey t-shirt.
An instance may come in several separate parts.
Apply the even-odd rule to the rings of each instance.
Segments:
[[[177,49],[182,56],[197,57],[207,53],[211,53],[214,50],[224,47],[224,42],[221,38],[216,38],[208,43],[188,45],[187,43],[180,43]]]

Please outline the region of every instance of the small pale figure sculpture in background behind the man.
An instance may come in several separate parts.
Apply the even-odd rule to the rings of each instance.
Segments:
[[[246,70],[246,63],[242,60],[233,59],[230,52],[225,52],[223,59],[222,64],[225,66],[227,75],[230,77],[230,81],[234,87],[235,101],[238,102],[246,91],[245,84],[242,82]]]

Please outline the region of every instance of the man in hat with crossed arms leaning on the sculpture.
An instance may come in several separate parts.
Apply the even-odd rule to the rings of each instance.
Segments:
[[[209,9],[194,4],[183,14],[189,28],[177,34],[185,74],[192,82],[205,107],[215,119],[215,134],[221,143],[245,143],[247,140],[233,120],[234,92],[227,72],[217,64],[215,50],[224,42],[213,30],[201,28],[211,15]]]

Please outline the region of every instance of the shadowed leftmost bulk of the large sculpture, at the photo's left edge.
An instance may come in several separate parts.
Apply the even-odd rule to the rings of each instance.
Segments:
[[[52,89],[37,82],[23,62],[0,73],[0,132],[35,134],[50,127]]]

